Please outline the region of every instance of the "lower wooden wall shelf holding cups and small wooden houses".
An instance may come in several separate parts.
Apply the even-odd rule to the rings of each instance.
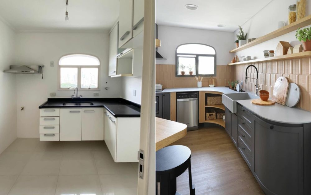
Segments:
[[[269,57],[269,58],[248,60],[244,62],[229,63],[228,65],[249,64],[249,63],[257,63],[257,62],[267,62],[267,61],[274,61],[274,60],[286,60],[286,59],[305,58],[305,57],[311,57],[311,51],[286,54],[286,55],[274,56],[274,57]]]

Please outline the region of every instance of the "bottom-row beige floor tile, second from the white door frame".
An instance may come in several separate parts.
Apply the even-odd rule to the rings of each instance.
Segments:
[[[102,192],[98,175],[63,175],[58,177],[55,194],[100,195]]]

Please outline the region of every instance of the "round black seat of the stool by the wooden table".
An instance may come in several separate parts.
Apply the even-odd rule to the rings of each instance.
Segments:
[[[191,157],[187,146],[167,146],[156,151],[156,172],[169,171],[185,163]]]

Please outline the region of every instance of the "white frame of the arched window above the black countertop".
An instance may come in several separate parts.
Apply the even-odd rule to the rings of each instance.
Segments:
[[[68,56],[68,55],[89,55],[89,56],[93,56],[95,58],[98,59],[99,61],[99,65],[60,65],[59,64],[59,61],[60,59],[62,59],[64,56]],[[101,69],[101,61],[100,61],[100,58],[98,58],[97,56],[95,55],[91,55],[91,54],[88,54],[88,53],[68,53],[66,55],[62,55],[59,59],[58,59],[58,82],[57,82],[57,85],[58,85],[58,91],[73,91],[75,89],[75,87],[71,87],[70,89],[68,89],[67,87],[66,88],[62,88],[60,87],[60,69],[61,68],[78,68],[78,76],[77,76],[77,79],[78,79],[78,82],[77,82],[77,87],[78,87],[78,91],[100,91],[100,69]],[[98,76],[97,76],[97,88],[81,88],[81,68],[98,68]]]

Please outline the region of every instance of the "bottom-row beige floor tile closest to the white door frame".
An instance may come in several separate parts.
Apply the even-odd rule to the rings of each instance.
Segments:
[[[136,174],[100,175],[99,178],[103,195],[137,194]]]

